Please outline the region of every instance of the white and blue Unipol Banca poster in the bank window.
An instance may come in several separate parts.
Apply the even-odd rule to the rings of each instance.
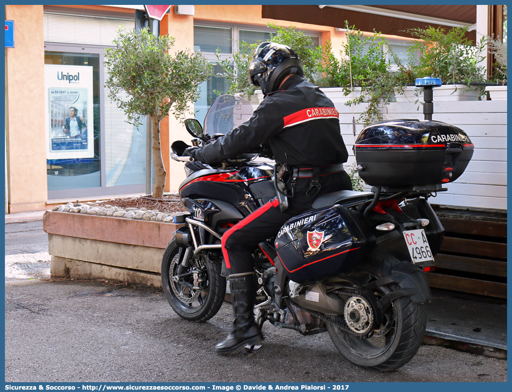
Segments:
[[[93,67],[45,65],[47,159],[94,156]]]

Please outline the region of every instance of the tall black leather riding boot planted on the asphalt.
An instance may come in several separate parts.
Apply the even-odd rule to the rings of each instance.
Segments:
[[[234,320],[226,340],[215,346],[215,351],[222,354],[247,344],[258,344],[264,339],[260,328],[254,322],[254,274],[230,275],[228,279]]]

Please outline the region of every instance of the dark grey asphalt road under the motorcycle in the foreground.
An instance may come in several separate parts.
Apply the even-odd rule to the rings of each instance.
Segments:
[[[220,356],[212,347],[230,328],[228,304],[197,324],[152,289],[22,283],[5,290],[6,382],[506,381],[506,360],[438,346],[422,346],[406,366],[378,374],[344,361],[327,334],[272,326],[259,350]]]

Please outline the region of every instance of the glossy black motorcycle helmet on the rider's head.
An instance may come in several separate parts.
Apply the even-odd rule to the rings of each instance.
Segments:
[[[254,50],[249,81],[261,87],[265,96],[276,91],[290,73],[304,76],[302,62],[289,46],[263,42]]]

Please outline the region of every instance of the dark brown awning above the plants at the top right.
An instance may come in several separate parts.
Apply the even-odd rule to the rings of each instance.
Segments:
[[[322,7],[322,8],[321,8]],[[411,38],[408,29],[467,26],[472,29],[467,37],[474,41],[476,31],[476,5],[263,5],[262,17],[290,22],[344,28],[345,21],[361,31],[381,32]]]

